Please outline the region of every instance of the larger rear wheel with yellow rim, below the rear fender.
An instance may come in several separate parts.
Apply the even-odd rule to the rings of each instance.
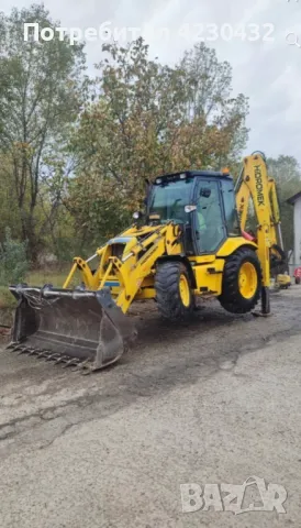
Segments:
[[[231,314],[247,314],[257,305],[261,293],[261,267],[256,253],[241,248],[228,256],[223,272],[219,300]]]

